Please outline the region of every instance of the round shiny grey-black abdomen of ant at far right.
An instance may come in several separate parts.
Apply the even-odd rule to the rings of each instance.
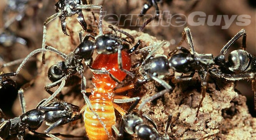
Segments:
[[[230,71],[241,73],[250,65],[250,54],[245,50],[234,50],[228,55],[227,66]]]

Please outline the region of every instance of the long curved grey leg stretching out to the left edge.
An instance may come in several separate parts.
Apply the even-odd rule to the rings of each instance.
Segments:
[[[38,52],[46,52],[46,49],[36,49],[32,52],[30,52],[30,54],[28,54],[28,56],[21,62],[21,64],[19,65],[18,69],[16,70],[16,72],[11,72],[11,73],[3,73],[0,75],[0,77],[12,77],[12,76],[16,76],[19,71],[22,69],[22,67],[25,65],[25,63],[27,63],[28,59],[31,58],[34,54],[38,53]]]

